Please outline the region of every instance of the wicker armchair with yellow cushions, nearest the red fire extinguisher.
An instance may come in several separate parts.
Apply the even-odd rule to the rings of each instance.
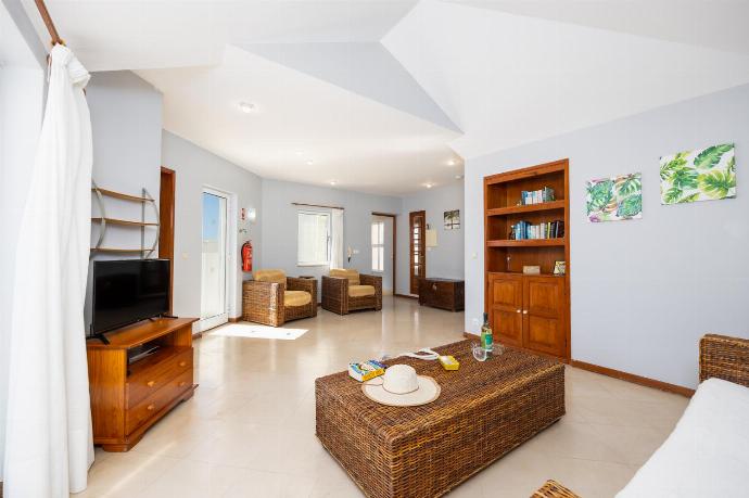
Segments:
[[[242,283],[242,320],[265,325],[317,316],[317,280],[287,278],[282,270],[258,270]]]

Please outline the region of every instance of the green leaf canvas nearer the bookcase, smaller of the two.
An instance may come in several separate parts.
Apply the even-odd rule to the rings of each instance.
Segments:
[[[639,173],[589,180],[585,190],[591,222],[643,217],[643,175]]]

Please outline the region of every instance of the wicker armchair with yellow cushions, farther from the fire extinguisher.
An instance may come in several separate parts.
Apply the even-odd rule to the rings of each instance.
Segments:
[[[332,269],[322,277],[322,308],[339,315],[356,309],[382,309],[382,277]]]

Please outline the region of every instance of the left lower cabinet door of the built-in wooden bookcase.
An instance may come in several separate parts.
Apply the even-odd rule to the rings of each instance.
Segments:
[[[510,346],[523,344],[523,278],[520,274],[488,274],[488,322],[495,341]]]

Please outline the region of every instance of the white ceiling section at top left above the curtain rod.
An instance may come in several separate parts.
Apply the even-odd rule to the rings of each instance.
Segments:
[[[47,0],[89,71],[217,63],[227,43],[379,41],[417,0]],[[23,0],[39,37],[34,0]]]

